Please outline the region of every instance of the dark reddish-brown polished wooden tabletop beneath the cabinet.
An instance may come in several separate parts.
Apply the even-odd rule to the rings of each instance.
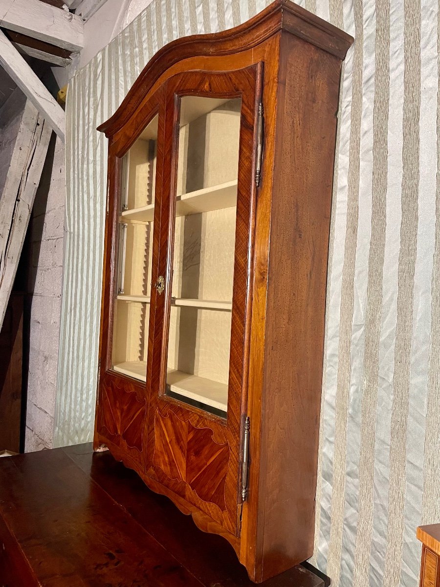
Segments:
[[[253,585],[228,542],[91,444],[0,459],[0,539],[2,587]],[[324,581],[299,565],[261,585]]]

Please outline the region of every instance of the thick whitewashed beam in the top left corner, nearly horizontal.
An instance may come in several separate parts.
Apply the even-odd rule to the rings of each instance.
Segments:
[[[82,19],[39,0],[0,0],[0,26],[69,51],[84,46]]]

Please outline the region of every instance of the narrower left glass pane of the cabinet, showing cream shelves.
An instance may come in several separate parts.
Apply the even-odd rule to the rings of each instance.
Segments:
[[[113,369],[145,381],[158,117],[122,160]]]

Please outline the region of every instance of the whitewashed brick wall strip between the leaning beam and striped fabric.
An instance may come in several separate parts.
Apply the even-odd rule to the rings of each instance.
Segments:
[[[53,134],[29,226],[31,268],[28,292],[32,294],[32,306],[26,452],[53,446],[65,197],[65,148]]]

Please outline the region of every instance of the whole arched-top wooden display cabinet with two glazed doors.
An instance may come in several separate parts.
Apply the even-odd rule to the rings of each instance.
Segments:
[[[261,582],[312,555],[341,61],[284,0],[172,42],[99,130],[96,448]]]

